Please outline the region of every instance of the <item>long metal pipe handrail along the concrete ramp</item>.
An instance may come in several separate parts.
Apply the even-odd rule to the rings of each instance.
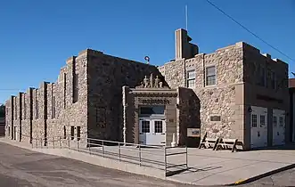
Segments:
[[[29,136],[28,136],[29,137]],[[179,168],[180,167],[188,167],[187,163],[187,147],[186,146],[179,146],[176,148],[185,148],[184,150],[177,150],[173,153],[168,153],[169,149],[175,149],[175,147],[171,146],[151,146],[151,145],[143,145],[143,144],[137,144],[137,143],[130,143],[130,142],[116,142],[116,141],[108,141],[108,140],[102,140],[102,139],[94,139],[94,138],[86,138],[86,137],[79,137],[79,140],[77,140],[77,137],[73,138],[74,136],[68,135],[66,136],[66,139],[64,139],[64,136],[53,136],[53,137],[47,137],[47,138],[32,138],[32,148],[34,148],[34,145],[36,148],[49,148],[53,147],[55,148],[68,148],[70,150],[78,150],[87,152],[90,155],[101,155],[103,158],[109,158],[109,159],[117,159],[119,162],[129,162],[133,164],[138,164],[140,167],[155,167],[159,168],[165,171],[165,175],[168,173],[168,169],[170,168]],[[56,143],[59,142],[59,143]],[[81,143],[86,144],[87,147],[81,147]],[[112,146],[106,145],[107,143],[114,144],[114,149],[108,150],[112,148]],[[99,148],[99,149],[95,149]],[[151,149],[152,148],[152,149]],[[149,149],[151,149],[149,151]],[[130,150],[130,152],[125,152],[122,150]],[[128,153],[131,153],[128,154]],[[179,163],[179,164],[172,164],[168,163],[168,157],[173,157],[175,155],[185,155],[185,163]],[[156,156],[162,156],[163,160],[157,160],[157,159],[150,159],[147,155],[156,155]]]

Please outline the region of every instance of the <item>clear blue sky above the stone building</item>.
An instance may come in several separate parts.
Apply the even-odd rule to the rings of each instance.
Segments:
[[[295,1],[212,3],[295,59]],[[294,61],[251,36],[205,0],[51,0],[0,3],[0,103],[20,89],[54,82],[65,61],[86,48],[161,65],[174,58],[174,31],[188,30],[201,53],[245,41],[262,53]]]

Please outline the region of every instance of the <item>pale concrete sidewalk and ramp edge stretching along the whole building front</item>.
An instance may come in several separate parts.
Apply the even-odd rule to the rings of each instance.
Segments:
[[[25,149],[41,151],[47,154],[59,155],[70,159],[79,159],[102,167],[115,168],[135,174],[150,175],[165,178],[162,166],[157,168],[139,167],[136,164],[119,162],[116,159],[105,159],[88,153],[67,149],[32,149],[28,143],[14,142],[0,138],[1,142],[10,143]],[[116,146],[108,147],[109,151],[118,152]],[[152,155],[143,153],[143,158],[149,158],[163,163],[161,153]],[[156,151],[156,150],[154,150]],[[157,150],[159,151],[159,150]],[[184,151],[183,148],[175,148],[173,151]],[[137,157],[135,151],[122,150],[122,154]],[[168,158],[168,163],[183,163],[184,155],[175,155]],[[137,161],[135,160],[135,163]],[[256,179],[269,172],[283,167],[295,167],[295,150],[253,150],[232,153],[229,150],[199,150],[188,149],[188,170],[182,173],[166,177],[167,180],[178,183],[190,183],[196,185],[228,185],[237,182]],[[160,164],[161,165],[161,164]],[[270,174],[269,174],[270,175]]]

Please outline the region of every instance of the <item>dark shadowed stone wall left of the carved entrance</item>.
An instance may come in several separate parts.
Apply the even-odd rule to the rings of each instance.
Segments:
[[[83,55],[88,59],[88,137],[118,141],[122,132],[122,86],[135,87],[144,76],[160,72],[148,64],[93,50]]]

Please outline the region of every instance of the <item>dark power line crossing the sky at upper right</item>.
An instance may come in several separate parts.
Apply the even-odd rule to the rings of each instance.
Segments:
[[[221,10],[217,5],[211,3],[209,0],[206,0],[209,4],[211,4],[213,7],[215,7],[218,11],[222,12],[223,14],[225,14],[225,16],[227,16],[229,19],[234,20],[234,18],[230,15],[228,15],[226,12],[224,12],[223,10]],[[283,54],[283,56],[287,57],[288,59],[290,59],[291,61],[294,61],[294,59],[292,59],[289,55],[283,53],[281,50],[279,50],[277,47],[275,47],[274,45],[270,45],[268,42],[266,42],[266,40],[262,39],[261,37],[259,37],[257,34],[255,34],[254,32],[252,32],[249,28],[246,28],[245,26],[242,25],[242,23],[240,23],[237,20],[234,20],[234,22],[238,25],[240,25],[242,28],[244,28],[245,30],[247,30],[251,35],[253,35],[254,37],[257,37],[260,41],[262,41],[263,43],[265,43],[266,45],[270,46],[271,48],[275,49],[275,51],[277,51],[278,53]]]

